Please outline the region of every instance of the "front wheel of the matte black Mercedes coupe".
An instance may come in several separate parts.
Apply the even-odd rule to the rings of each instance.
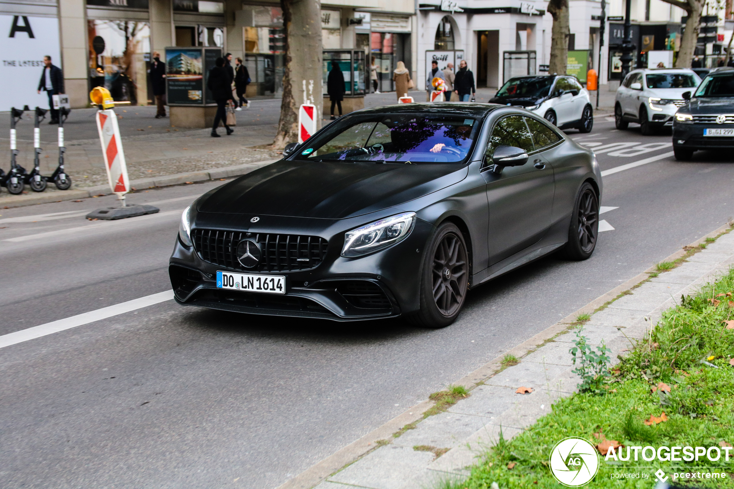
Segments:
[[[438,227],[421,274],[421,309],[409,319],[424,328],[443,328],[459,315],[469,284],[469,260],[462,232],[451,222]]]

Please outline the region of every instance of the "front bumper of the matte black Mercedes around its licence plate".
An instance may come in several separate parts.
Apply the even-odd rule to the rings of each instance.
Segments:
[[[354,227],[346,224],[344,231]],[[278,228],[268,232],[302,231],[303,220],[294,222],[292,227]],[[183,246],[178,238],[170,258],[169,275],[175,301],[183,306],[335,321],[396,317],[418,309],[420,279],[416,278],[421,276],[424,248],[434,229],[417,219],[413,232],[400,243],[358,258],[341,257],[344,231],[312,229],[309,234],[321,235],[329,241],[326,256],[316,268],[253,272],[286,276],[283,295],[218,289],[217,271],[247,272],[207,262],[193,247]]]

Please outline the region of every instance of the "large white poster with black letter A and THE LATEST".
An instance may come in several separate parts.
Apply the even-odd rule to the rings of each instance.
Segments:
[[[43,56],[51,56],[51,62],[63,69],[58,19],[0,15],[0,39],[0,111],[26,105],[50,109],[46,92],[39,95],[36,90],[43,75]]]

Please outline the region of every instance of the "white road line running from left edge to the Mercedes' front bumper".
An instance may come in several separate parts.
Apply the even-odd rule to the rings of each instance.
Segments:
[[[132,301],[115,304],[114,306],[103,307],[96,311],[84,312],[66,319],[59,319],[51,323],[34,326],[33,328],[15,331],[14,333],[4,334],[0,336],[0,348],[5,348],[16,343],[26,342],[29,339],[45,337],[47,334],[57,333],[65,329],[76,328],[84,324],[94,323],[95,321],[106,319],[107,317],[117,316],[125,312],[131,312],[142,307],[153,306],[160,302],[170,301],[173,298],[173,291],[166,290],[153,295],[146,295]]]

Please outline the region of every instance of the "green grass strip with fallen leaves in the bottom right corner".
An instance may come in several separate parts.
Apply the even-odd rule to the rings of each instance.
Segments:
[[[523,433],[512,440],[501,437],[472,467],[468,480],[446,481],[440,488],[562,488],[548,460],[553,446],[568,436],[581,436],[593,444],[617,441],[622,446],[732,446],[733,296],[734,270],[730,270],[694,297],[681,298],[681,304],[667,310],[650,335],[611,369],[603,394],[577,392],[559,400],[551,413]],[[606,462],[602,457],[596,477],[584,487],[652,488],[653,474],[661,468],[669,475],[704,474],[704,478],[678,478],[677,487],[734,488],[734,452],[728,462],[723,453],[722,449],[717,462],[706,457],[691,462],[642,458],[637,463]],[[705,473],[713,471],[726,472],[727,477],[706,479]],[[648,477],[614,477],[627,473]]]

